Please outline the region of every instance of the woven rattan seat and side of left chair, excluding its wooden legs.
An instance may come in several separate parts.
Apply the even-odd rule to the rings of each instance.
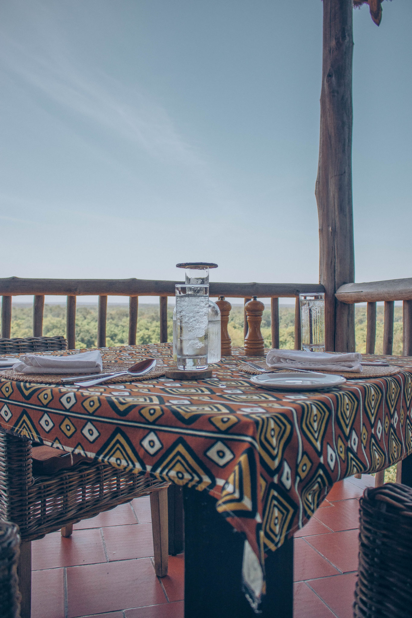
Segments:
[[[67,523],[94,517],[168,483],[82,463],[53,476],[32,476],[32,442],[0,432],[0,517],[19,525],[23,541],[33,541]]]

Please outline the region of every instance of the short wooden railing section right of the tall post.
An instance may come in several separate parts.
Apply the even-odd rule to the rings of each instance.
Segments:
[[[403,301],[402,353],[412,355],[412,279],[390,279],[370,283],[348,283],[335,294],[342,303],[368,303],[366,353],[374,354],[376,341],[376,303],[384,302],[384,354],[392,354],[395,300]]]

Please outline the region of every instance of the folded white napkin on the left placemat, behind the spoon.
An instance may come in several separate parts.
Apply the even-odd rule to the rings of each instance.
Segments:
[[[100,373],[101,353],[99,350],[93,350],[69,356],[24,354],[13,365],[13,369],[18,373]]]

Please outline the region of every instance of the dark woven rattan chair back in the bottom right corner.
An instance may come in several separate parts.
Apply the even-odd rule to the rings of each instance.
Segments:
[[[412,488],[387,483],[360,500],[355,618],[406,618],[412,608]]]

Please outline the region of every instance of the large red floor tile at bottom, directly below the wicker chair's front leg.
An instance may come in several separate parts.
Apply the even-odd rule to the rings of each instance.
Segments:
[[[67,569],[69,618],[166,603],[149,558]]]

